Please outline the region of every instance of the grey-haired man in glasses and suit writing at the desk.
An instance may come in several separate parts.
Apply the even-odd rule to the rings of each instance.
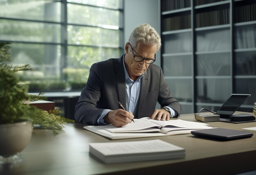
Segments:
[[[140,24],[132,31],[124,55],[94,63],[75,107],[76,121],[121,127],[133,118],[178,117],[180,103],[171,95],[162,69],[152,64],[160,47],[157,31]],[[126,110],[119,109],[118,101]],[[157,101],[162,109],[155,109]]]

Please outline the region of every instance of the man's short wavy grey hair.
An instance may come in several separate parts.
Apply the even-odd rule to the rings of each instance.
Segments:
[[[129,37],[129,43],[132,45],[132,47],[137,47],[139,42],[142,42],[143,44],[147,46],[154,46],[157,45],[157,50],[161,48],[161,37],[149,24],[139,24],[137,27],[135,27]]]

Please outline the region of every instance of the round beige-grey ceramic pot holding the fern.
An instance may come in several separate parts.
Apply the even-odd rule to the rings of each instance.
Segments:
[[[0,155],[7,158],[25,149],[30,141],[31,134],[31,120],[0,124]]]

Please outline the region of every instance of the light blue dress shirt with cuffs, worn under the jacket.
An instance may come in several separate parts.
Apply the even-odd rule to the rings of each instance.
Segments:
[[[123,57],[124,60],[124,57]],[[130,79],[128,72],[126,70],[126,67],[124,65],[123,61],[123,66],[124,66],[124,74],[125,74],[125,84],[126,84],[126,110],[129,112],[135,112],[135,109],[137,107],[137,103],[139,101],[139,94],[140,94],[140,88],[141,88],[141,77],[144,76],[144,73],[137,78],[136,81],[133,81]],[[168,107],[168,106],[166,106]],[[168,107],[171,112],[171,116],[175,116],[175,112],[171,107]],[[103,112],[101,113],[101,116],[98,118],[97,122],[99,125],[108,125],[108,123],[104,122],[104,116],[110,112],[110,109],[104,109]]]

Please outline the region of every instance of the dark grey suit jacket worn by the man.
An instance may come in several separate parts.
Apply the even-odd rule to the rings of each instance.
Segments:
[[[135,118],[152,115],[157,101],[162,107],[169,106],[180,114],[180,103],[171,95],[159,66],[150,64],[141,79],[138,107],[133,114]],[[79,123],[98,125],[97,119],[104,109],[119,109],[117,101],[126,108],[123,55],[119,59],[92,65],[86,87],[76,103],[75,119]]]

